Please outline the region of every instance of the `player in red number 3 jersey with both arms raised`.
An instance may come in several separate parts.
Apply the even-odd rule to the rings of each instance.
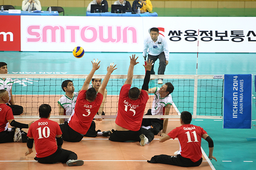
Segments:
[[[65,122],[64,124],[60,124],[60,129],[63,133],[63,140],[68,142],[79,142],[83,139],[84,135],[87,133],[88,129],[91,126],[91,122],[93,121],[94,116],[99,111],[99,107],[101,106],[103,100],[103,94],[105,88],[108,84],[110,75],[117,68],[114,63],[110,64],[107,68],[108,72],[99,87],[98,93],[95,88],[89,88],[89,84],[96,70],[99,69],[98,59],[94,60],[93,68],[90,74],[87,76],[81,91],[78,94],[78,98],[76,100],[75,109],[69,119],[69,122]]]

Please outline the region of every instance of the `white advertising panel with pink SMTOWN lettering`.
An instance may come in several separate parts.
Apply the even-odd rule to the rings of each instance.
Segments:
[[[21,51],[141,52],[143,24],[135,18],[21,16]]]

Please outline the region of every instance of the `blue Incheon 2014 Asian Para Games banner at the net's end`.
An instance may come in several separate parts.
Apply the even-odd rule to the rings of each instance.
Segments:
[[[223,128],[251,129],[252,74],[224,75]]]

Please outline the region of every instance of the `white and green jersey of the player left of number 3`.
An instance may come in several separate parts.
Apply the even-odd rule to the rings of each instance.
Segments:
[[[74,111],[76,99],[77,99],[78,93],[74,93],[73,98],[69,98],[66,94],[63,95],[58,103],[61,107],[64,108],[64,115],[71,115]],[[68,118],[64,119],[64,122],[68,122]]]

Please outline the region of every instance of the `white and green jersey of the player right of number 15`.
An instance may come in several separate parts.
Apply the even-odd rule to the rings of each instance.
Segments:
[[[157,89],[154,92],[155,97],[154,97],[152,108],[151,108],[152,115],[164,115],[165,107],[167,106],[167,104],[170,104],[170,105],[173,104],[172,96],[169,94],[164,98],[160,98],[159,90],[160,88],[157,87]]]

